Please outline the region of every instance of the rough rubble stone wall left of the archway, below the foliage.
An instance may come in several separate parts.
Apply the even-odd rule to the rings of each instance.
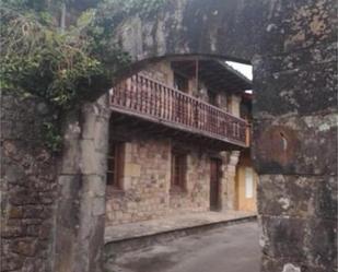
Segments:
[[[42,139],[48,107],[1,97],[1,271],[51,270],[56,161]]]

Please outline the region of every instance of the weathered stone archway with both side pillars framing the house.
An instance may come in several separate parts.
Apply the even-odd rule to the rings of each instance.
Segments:
[[[265,272],[326,272],[336,265],[335,8],[331,0],[212,0],[208,4],[205,0],[172,0],[158,14],[127,19],[115,37],[131,55],[135,69],[153,58],[180,55],[252,61],[257,91],[254,158],[261,179],[258,210]],[[93,90],[93,97],[101,95]],[[104,146],[96,145],[94,132],[104,137],[106,128],[100,127],[100,118],[106,115],[98,108],[86,103],[82,113],[67,119],[56,220],[48,225],[54,235],[48,236],[48,245],[44,239],[53,256],[46,267],[54,263],[54,271],[100,270],[104,226],[104,165],[100,162],[104,157],[95,158]],[[21,110],[33,115],[28,109]],[[83,118],[90,111],[95,120]],[[98,129],[89,131],[96,125]],[[36,157],[36,141],[30,142],[32,149],[22,147],[13,138],[15,130],[20,128],[12,126],[11,133],[4,135],[4,141],[15,145],[5,144],[5,156],[15,159],[11,152],[19,154],[15,149],[20,149]],[[46,179],[46,173],[32,169],[35,179]],[[22,175],[31,177],[32,173]],[[22,179],[15,175],[11,178]],[[24,198],[11,193],[15,201]],[[27,253],[28,248],[31,255],[36,243],[25,243],[21,249]],[[37,268],[42,258],[32,253],[28,261]]]

